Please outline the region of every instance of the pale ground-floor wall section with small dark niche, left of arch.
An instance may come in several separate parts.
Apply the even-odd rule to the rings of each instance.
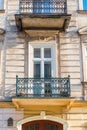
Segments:
[[[13,119],[13,126],[9,127],[7,120]],[[0,108],[0,130],[17,130],[17,122],[23,119],[23,111],[15,108]]]

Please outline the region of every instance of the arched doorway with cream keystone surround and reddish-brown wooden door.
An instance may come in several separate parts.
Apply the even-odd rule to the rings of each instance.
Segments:
[[[18,130],[67,130],[68,123],[58,117],[45,115],[28,117],[17,122]]]

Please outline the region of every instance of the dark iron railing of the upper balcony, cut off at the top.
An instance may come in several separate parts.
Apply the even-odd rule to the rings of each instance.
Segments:
[[[67,0],[20,0],[20,13],[67,14]]]

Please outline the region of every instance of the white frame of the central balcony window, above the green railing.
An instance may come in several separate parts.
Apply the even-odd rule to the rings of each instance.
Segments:
[[[42,59],[41,58],[34,58],[33,56],[33,50],[34,48],[41,48],[42,50],[44,48],[51,48],[51,58],[44,58],[44,55],[42,54]],[[28,52],[29,52],[29,55],[28,55],[28,76],[33,78],[33,62],[34,61],[40,61],[40,62],[43,62],[42,66],[44,65],[44,62],[45,61],[48,61],[48,62],[51,62],[52,63],[52,72],[51,72],[51,77],[57,77],[57,61],[56,61],[56,44],[45,44],[45,43],[40,43],[40,44],[32,44],[32,43],[29,43],[29,46],[28,46]],[[43,50],[44,52],[44,50]],[[41,52],[42,53],[42,52]],[[42,60],[42,61],[41,61]],[[42,67],[41,67],[42,69]],[[41,78],[44,78],[44,72],[41,72]]]

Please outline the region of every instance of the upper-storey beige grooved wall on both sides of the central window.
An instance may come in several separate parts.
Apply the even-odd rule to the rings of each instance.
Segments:
[[[3,44],[4,62],[1,75],[1,87],[5,95],[14,94],[16,75],[27,75],[27,36],[17,32],[15,16],[18,12],[18,0],[5,1],[5,13],[1,13],[1,25],[3,24],[6,34]],[[59,34],[60,45],[60,76],[71,76],[72,96],[82,97],[81,66],[80,66],[80,37],[77,34],[77,1],[67,1],[68,14],[72,14],[71,21],[66,32]],[[5,22],[3,22],[3,20]],[[54,34],[55,37],[55,34]],[[29,38],[28,38],[29,39]],[[32,40],[32,38],[31,38]],[[46,41],[47,42],[47,41]],[[59,51],[59,50],[58,50]],[[1,61],[2,62],[2,61]],[[10,91],[9,91],[10,89]]]

